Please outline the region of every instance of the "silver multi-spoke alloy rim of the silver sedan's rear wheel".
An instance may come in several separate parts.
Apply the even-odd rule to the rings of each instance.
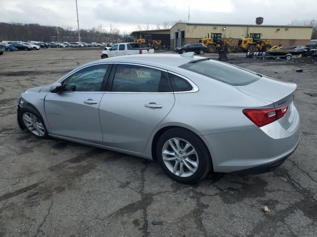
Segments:
[[[182,138],[167,140],[162,148],[162,158],[170,172],[179,177],[193,175],[199,163],[194,146]]]

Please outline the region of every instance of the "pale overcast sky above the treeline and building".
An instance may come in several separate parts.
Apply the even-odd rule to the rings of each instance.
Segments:
[[[286,25],[317,17],[317,0],[77,0],[80,28],[102,25],[131,32],[138,24],[164,21]],[[0,22],[77,28],[75,0],[0,0]]]

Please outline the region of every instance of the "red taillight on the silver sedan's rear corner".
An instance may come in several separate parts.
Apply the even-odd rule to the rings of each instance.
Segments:
[[[242,112],[257,126],[262,127],[282,118],[286,114],[287,108],[287,106],[284,106],[273,109],[244,109]]]

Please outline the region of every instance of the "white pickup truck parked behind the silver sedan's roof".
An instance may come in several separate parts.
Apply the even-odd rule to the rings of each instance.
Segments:
[[[154,53],[153,48],[145,48],[139,43],[116,43],[111,48],[105,47],[101,58],[109,58],[131,54]]]

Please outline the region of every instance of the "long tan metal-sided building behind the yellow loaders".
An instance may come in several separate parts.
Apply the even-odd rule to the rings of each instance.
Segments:
[[[306,45],[312,38],[311,26],[276,26],[276,25],[234,25],[177,23],[170,29],[171,49],[187,44],[198,43],[211,33],[222,33],[225,38],[232,38],[233,43],[250,33],[261,33],[262,39],[272,40],[271,45],[283,46]]]

